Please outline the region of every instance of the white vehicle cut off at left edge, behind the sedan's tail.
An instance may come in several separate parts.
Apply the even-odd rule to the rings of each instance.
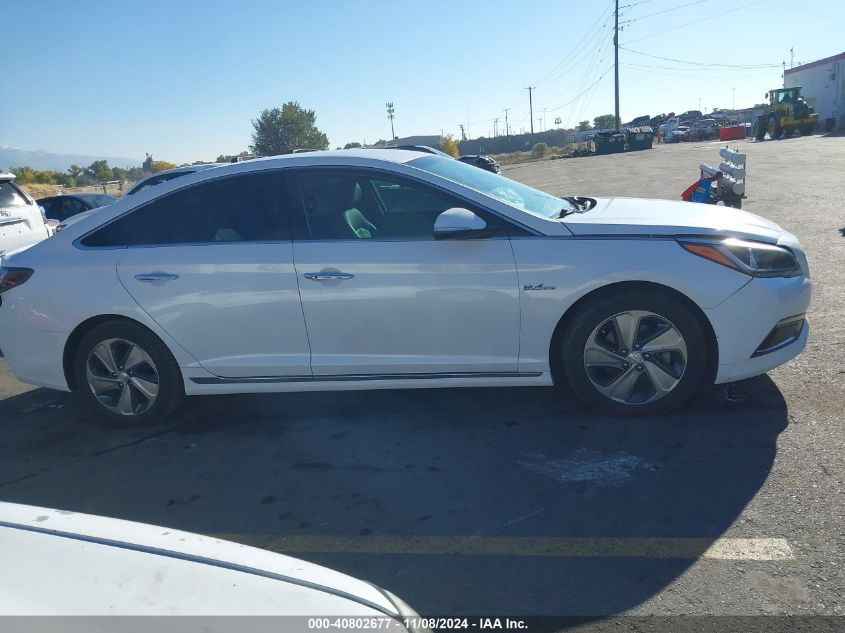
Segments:
[[[15,175],[0,173],[0,259],[4,253],[40,242],[52,233],[44,211],[15,184]]]

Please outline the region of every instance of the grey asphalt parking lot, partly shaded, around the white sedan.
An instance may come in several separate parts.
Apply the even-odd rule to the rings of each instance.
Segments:
[[[624,420],[549,389],[209,397],[115,429],[0,358],[0,499],[225,535],[423,614],[843,615],[845,137],[731,145],[743,208],[801,239],[815,284],[807,350],[736,398]],[[719,147],[504,175],[677,199]]]

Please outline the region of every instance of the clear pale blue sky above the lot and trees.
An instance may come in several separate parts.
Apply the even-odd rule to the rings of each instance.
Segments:
[[[0,0],[0,9],[0,145],[22,149],[213,160],[247,149],[250,121],[287,101],[316,112],[331,147],[390,138],[387,102],[400,137],[460,138],[460,125],[470,137],[502,133],[505,108],[510,130],[527,130],[527,86],[535,130],[614,109],[612,0]],[[841,0],[620,0],[620,25],[623,121],[751,106],[783,85],[790,49],[795,64],[845,51]]]

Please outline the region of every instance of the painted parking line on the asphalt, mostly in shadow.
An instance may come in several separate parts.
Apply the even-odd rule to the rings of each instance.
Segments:
[[[269,534],[218,534],[215,536],[285,554],[447,554],[761,561],[795,558],[788,541],[782,538],[279,536]]]

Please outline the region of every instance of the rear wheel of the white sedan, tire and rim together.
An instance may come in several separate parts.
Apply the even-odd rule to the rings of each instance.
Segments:
[[[136,323],[103,323],[88,332],[76,350],[74,374],[90,408],[126,425],[162,422],[185,397],[170,350]]]

